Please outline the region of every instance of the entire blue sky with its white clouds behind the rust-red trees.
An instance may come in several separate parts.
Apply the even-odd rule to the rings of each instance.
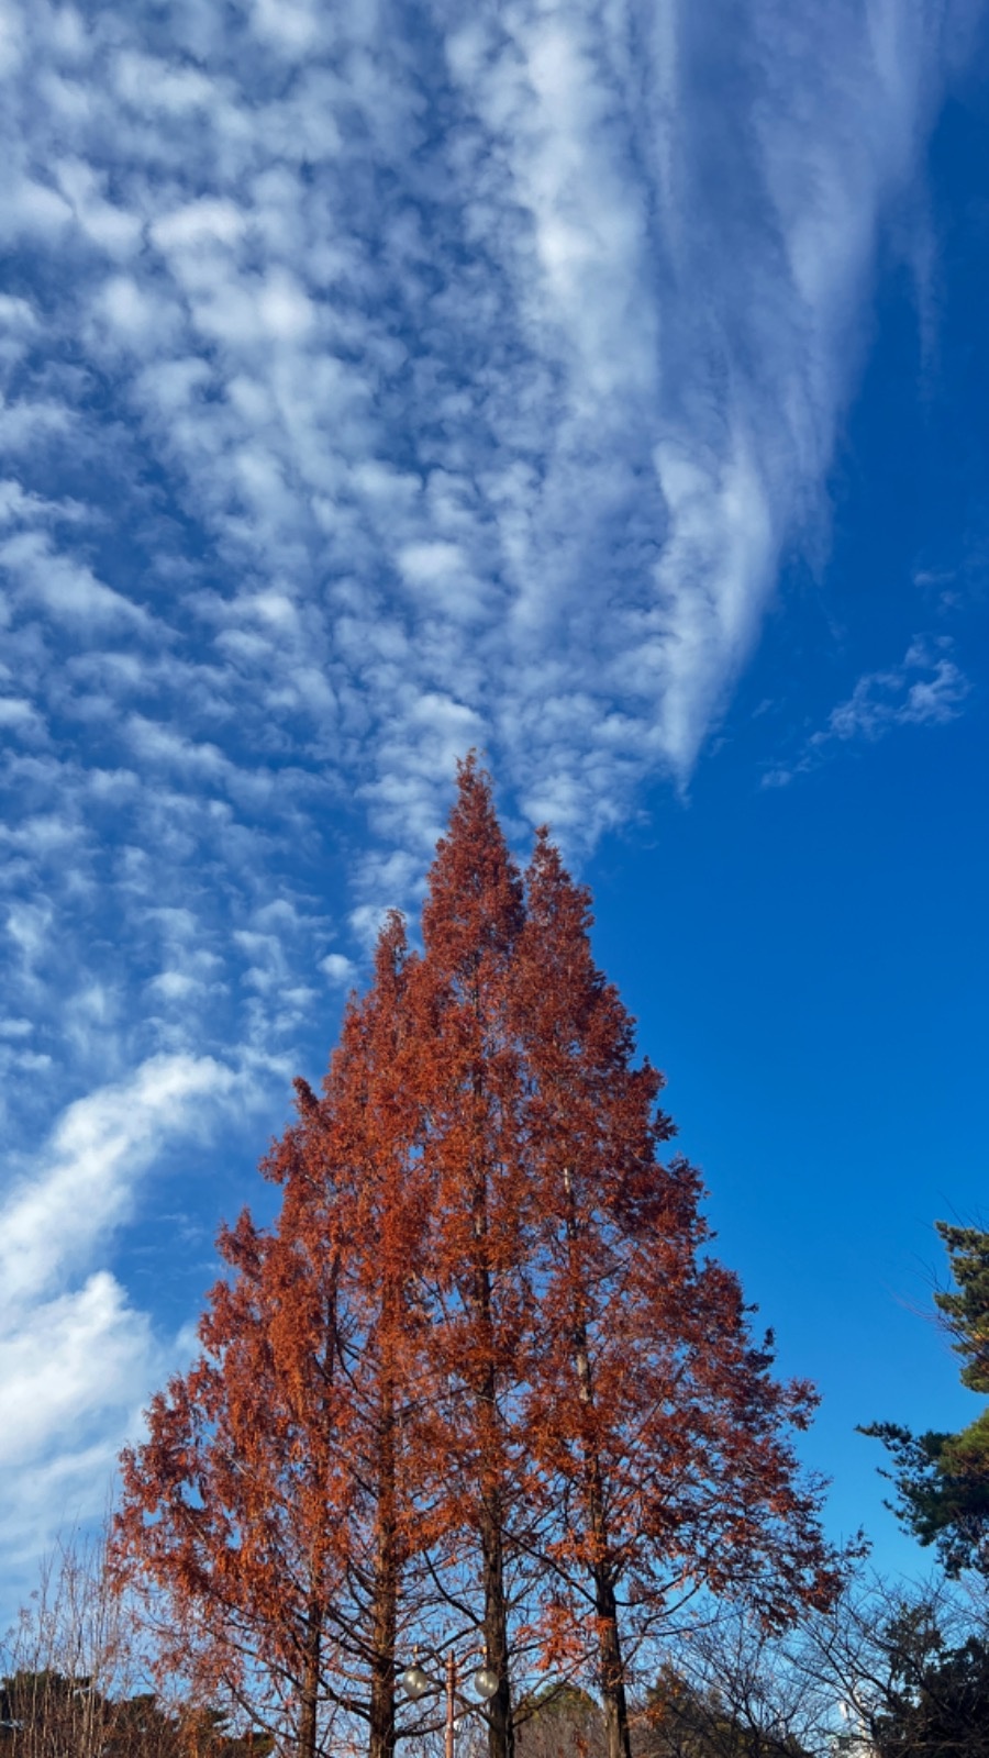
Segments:
[[[0,0],[7,1593],[479,745],[723,1257],[853,1424],[975,1413],[989,30],[975,0]]]

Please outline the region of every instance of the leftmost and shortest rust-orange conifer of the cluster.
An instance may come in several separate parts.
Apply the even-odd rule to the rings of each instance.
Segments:
[[[202,1354],[155,1396],[148,1440],[123,1454],[113,1545],[118,1579],[157,1596],[162,1665],[287,1723],[301,1758],[319,1751],[326,1614],[345,1587],[354,1519],[340,1447],[354,1420],[340,1371],[343,1241],[322,1225],[313,1250],[311,1190],[334,1206],[315,1159],[304,1123],[290,1129],[271,1167],[278,1227],[262,1232],[245,1210],[220,1232],[229,1280],[209,1292]]]

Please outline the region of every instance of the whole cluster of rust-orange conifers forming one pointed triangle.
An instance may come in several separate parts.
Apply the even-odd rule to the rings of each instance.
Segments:
[[[266,1162],[280,1218],[220,1234],[202,1355],[125,1456],[116,1566],[162,1598],[165,1658],[264,1698],[301,1758],[355,1718],[391,1758],[417,1640],[494,1670],[491,1758],[538,1668],[593,1684],[628,1758],[676,1600],[781,1624],[838,1587],[790,1442],[813,1392],[702,1255],[590,921],[546,833],[523,879],[461,765],[422,951],[389,918]]]

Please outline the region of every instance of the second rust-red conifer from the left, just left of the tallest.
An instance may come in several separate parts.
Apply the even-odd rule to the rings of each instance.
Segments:
[[[396,1645],[415,1602],[412,1558],[429,1540],[421,1415],[428,1392],[422,1304],[415,1290],[429,1185],[419,1151],[417,1037],[408,1013],[401,918],[387,918],[375,981],[343,1020],[324,1081],[320,1148],[331,1174],[345,1167],[347,1310],[341,1369],[355,1422],[341,1442],[357,1482],[347,1545],[348,1595],[334,1610],[338,1642],[368,1688],[368,1758],[396,1744]]]

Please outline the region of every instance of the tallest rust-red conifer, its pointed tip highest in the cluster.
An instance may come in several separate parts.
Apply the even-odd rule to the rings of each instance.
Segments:
[[[510,1410],[524,1355],[528,1178],[510,990],[523,919],[487,779],[468,759],[429,872],[410,990],[433,1188],[429,1359],[447,1389],[435,1408],[438,1496],[447,1535],[461,1533],[461,1549],[477,1540],[484,1661],[498,1675],[491,1758],[514,1751],[507,1533],[521,1500]]]

